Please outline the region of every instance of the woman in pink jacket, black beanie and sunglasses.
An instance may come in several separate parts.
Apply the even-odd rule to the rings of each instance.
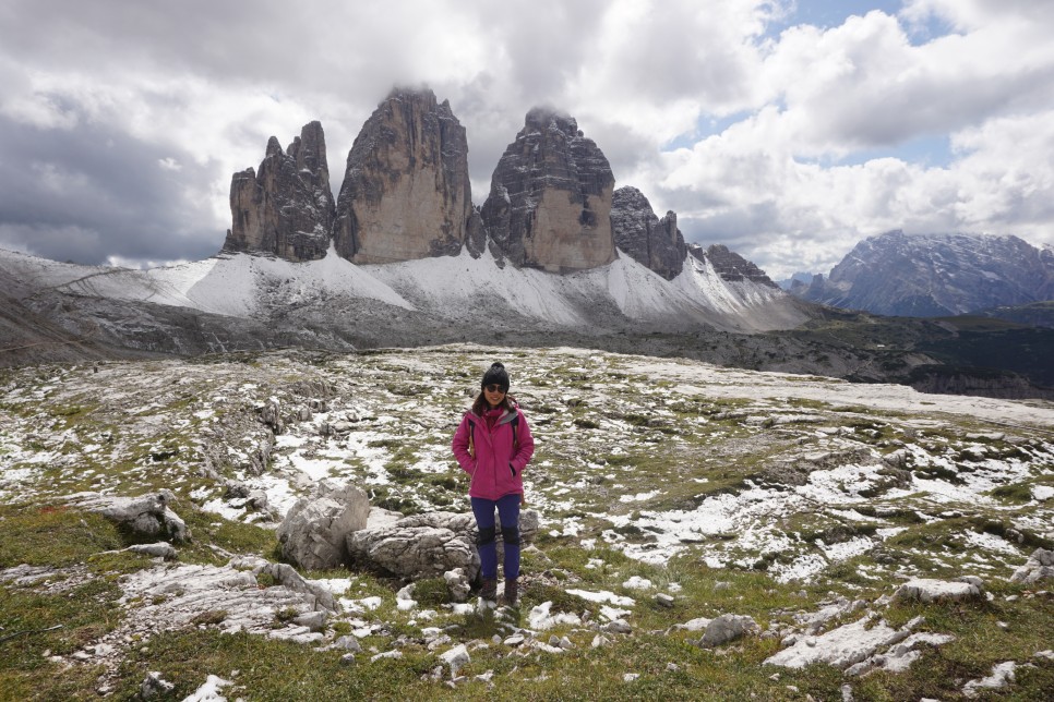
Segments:
[[[505,604],[515,605],[519,578],[519,503],[524,496],[523,470],[535,452],[527,420],[508,395],[508,373],[494,363],[483,374],[480,394],[454,433],[454,457],[472,476],[468,495],[479,530],[479,559],[483,578],[480,596],[498,597],[498,535],[494,509],[501,523],[505,556]]]

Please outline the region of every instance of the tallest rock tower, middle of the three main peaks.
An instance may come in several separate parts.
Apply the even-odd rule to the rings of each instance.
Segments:
[[[468,141],[450,102],[431,90],[395,89],[348,154],[333,239],[357,264],[483,250],[468,180]]]

